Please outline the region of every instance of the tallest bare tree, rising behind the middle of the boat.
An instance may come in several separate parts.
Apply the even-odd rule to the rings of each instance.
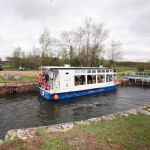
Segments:
[[[108,32],[103,23],[93,23],[92,19],[86,19],[84,29],[84,51],[86,49],[86,66],[95,66],[97,60],[102,57],[103,41],[108,37]]]

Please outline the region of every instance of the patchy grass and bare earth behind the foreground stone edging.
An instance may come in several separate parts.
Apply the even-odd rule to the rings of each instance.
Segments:
[[[111,121],[76,125],[64,133],[45,134],[37,131],[35,138],[22,141],[17,137],[6,140],[1,150],[95,150],[95,149],[145,149],[150,148],[150,116],[138,114],[117,117]]]

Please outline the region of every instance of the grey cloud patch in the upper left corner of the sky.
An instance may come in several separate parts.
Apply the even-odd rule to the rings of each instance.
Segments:
[[[55,7],[53,7],[55,3]],[[51,0],[0,0],[0,7],[4,13],[10,13],[24,20],[44,20],[50,17],[58,17],[62,13],[62,0],[57,2]]]

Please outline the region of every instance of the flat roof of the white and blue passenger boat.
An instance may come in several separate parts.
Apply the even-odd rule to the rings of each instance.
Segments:
[[[114,69],[114,68],[108,68],[108,67],[70,67],[70,66],[42,66],[42,69]]]

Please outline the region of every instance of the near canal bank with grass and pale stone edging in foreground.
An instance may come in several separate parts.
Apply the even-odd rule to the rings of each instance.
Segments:
[[[145,149],[150,147],[150,105],[84,121],[7,132],[3,150]]]

